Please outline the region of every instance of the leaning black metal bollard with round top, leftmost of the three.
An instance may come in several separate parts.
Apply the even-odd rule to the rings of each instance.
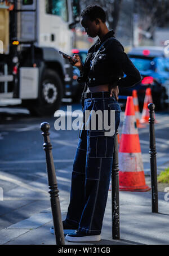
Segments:
[[[42,135],[45,143],[43,149],[46,153],[46,164],[47,164],[47,175],[48,175],[48,186],[51,197],[51,209],[54,220],[55,239],[57,245],[64,245],[65,238],[63,232],[63,223],[61,219],[61,210],[59,202],[59,189],[57,189],[57,180],[54,166],[54,159],[52,155],[52,145],[49,137],[50,125],[48,123],[41,123]]]

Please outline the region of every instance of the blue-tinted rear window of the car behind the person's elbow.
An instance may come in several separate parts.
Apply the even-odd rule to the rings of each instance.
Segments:
[[[153,70],[154,62],[152,59],[130,58],[132,63],[139,71]]]

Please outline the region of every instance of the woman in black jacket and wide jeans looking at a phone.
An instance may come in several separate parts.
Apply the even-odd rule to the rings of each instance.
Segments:
[[[82,11],[81,24],[85,32],[90,37],[99,38],[88,50],[84,66],[78,54],[74,55],[77,63],[71,60],[69,62],[81,71],[78,81],[88,85],[83,115],[86,110],[101,110],[103,115],[104,110],[108,110],[110,116],[110,111],[115,110],[117,132],[121,112],[118,104],[118,86],[132,86],[139,82],[141,77],[124,53],[121,43],[114,38],[114,31],[109,31],[105,21],[105,11],[100,6],[90,5]],[[123,77],[123,72],[126,77]],[[91,115],[89,119],[91,122]],[[85,123],[84,119],[83,122]],[[67,229],[75,229],[73,233],[66,235],[68,241],[101,239],[115,142],[115,133],[109,135],[105,136],[105,129],[100,130],[98,127],[95,130],[84,128],[79,134],[73,163],[70,204],[63,221],[65,233],[68,232]]]

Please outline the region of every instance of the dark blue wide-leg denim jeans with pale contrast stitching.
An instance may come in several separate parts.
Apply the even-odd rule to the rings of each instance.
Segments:
[[[87,98],[86,110],[115,110],[115,132],[120,122],[121,107],[113,97]],[[91,115],[90,115],[91,118]],[[75,153],[70,203],[66,222],[87,235],[100,235],[113,164],[115,134],[105,136],[103,130],[82,129]]]

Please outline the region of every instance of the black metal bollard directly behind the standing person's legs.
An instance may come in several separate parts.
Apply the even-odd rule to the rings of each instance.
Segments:
[[[112,237],[120,238],[119,230],[119,167],[118,167],[118,138],[115,134],[115,145],[112,166]]]

